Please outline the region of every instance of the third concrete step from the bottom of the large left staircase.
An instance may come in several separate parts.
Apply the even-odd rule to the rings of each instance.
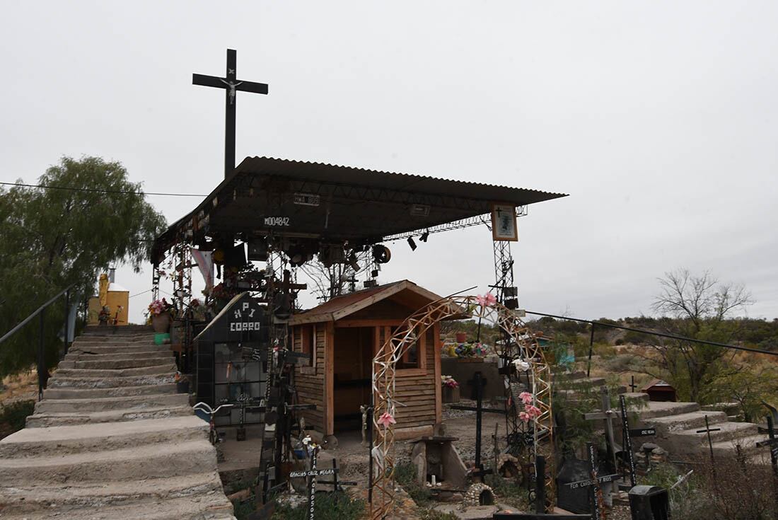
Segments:
[[[0,459],[0,482],[13,482],[16,486],[140,480],[211,471],[216,471],[216,449],[206,439]]]

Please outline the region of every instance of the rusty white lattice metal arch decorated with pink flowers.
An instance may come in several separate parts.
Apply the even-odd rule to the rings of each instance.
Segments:
[[[445,318],[467,317],[491,321],[506,332],[506,344],[501,357],[504,362],[513,364],[515,371],[526,371],[530,378],[533,393],[524,393],[519,399],[524,404],[524,412],[516,409],[516,420],[533,423],[532,455],[551,456],[552,410],[551,410],[551,371],[545,361],[538,342],[520,320],[515,311],[497,302],[491,294],[483,296],[448,297],[436,300],[422,307],[387,338],[373,359],[373,427],[378,442],[373,448],[373,463],[377,466],[373,480],[373,501],[370,504],[370,518],[386,518],[394,506],[394,428],[401,427],[396,417],[397,407],[403,406],[394,400],[394,379],[396,364],[416,339],[422,337],[436,321]],[[510,376],[511,381],[517,378]],[[518,403],[516,403],[518,404]],[[507,406],[507,405],[506,405]],[[524,415],[521,415],[524,414]],[[545,474],[546,493],[552,496],[552,469]]]

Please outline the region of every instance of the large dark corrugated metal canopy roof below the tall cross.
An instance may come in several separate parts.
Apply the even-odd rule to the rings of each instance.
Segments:
[[[297,192],[319,195],[319,206],[299,206]],[[478,182],[450,181],[327,163],[247,157],[197,208],[155,244],[155,257],[192,233],[287,233],[314,239],[374,243],[382,237],[485,215],[492,203],[526,206],[566,195]],[[409,211],[425,208],[421,216]],[[272,230],[268,216],[286,216]]]

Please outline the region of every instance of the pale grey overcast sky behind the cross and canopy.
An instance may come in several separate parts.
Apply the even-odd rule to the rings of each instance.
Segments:
[[[519,220],[524,308],[648,313],[685,267],[778,316],[778,2],[0,3],[0,181],[96,155],[147,191],[209,193],[224,94],[191,74],[223,76],[229,47],[270,90],[238,93],[238,162],[569,193]],[[173,222],[198,199],[150,201]],[[390,247],[381,282],[493,283],[485,227]],[[117,282],[140,293],[148,271]]]

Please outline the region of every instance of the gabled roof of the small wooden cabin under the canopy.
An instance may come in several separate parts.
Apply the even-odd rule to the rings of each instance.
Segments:
[[[289,318],[289,325],[338,321],[387,298],[397,300],[414,310],[441,299],[436,293],[411,281],[401,280],[335,297],[308,311],[294,314],[292,318]]]

